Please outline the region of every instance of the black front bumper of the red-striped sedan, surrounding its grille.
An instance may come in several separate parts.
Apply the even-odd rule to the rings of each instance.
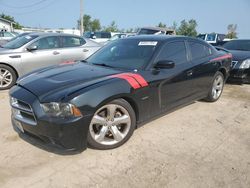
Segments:
[[[13,127],[20,135],[31,137],[44,146],[52,145],[64,151],[83,151],[87,148],[88,125],[91,116],[71,120],[49,118],[42,111],[37,97],[19,86],[14,86],[10,90],[10,97],[21,101],[24,107],[30,106],[30,112],[32,112],[22,108],[20,115],[19,109],[12,105]],[[29,114],[26,115],[24,110]]]

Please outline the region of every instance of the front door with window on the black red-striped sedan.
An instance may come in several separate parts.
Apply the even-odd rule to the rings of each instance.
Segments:
[[[186,103],[193,95],[192,63],[188,61],[184,41],[166,43],[159,52],[156,62],[168,60],[175,63],[171,69],[160,69],[158,94],[163,111]]]

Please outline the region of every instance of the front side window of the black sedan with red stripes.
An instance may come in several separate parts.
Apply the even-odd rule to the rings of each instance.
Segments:
[[[185,43],[178,41],[166,44],[161,50],[158,60],[169,60],[175,62],[175,64],[187,62]]]

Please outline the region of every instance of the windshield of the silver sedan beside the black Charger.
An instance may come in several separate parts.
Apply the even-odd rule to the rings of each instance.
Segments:
[[[27,44],[28,42],[30,42],[31,40],[37,38],[37,35],[25,35],[22,37],[18,37],[15,40],[12,40],[8,43],[6,43],[5,45],[3,45],[3,48],[7,48],[7,49],[17,49],[20,48],[21,46]]]

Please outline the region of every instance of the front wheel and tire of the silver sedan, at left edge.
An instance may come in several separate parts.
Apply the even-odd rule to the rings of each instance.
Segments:
[[[16,80],[16,72],[11,67],[0,64],[0,90],[10,89]]]

